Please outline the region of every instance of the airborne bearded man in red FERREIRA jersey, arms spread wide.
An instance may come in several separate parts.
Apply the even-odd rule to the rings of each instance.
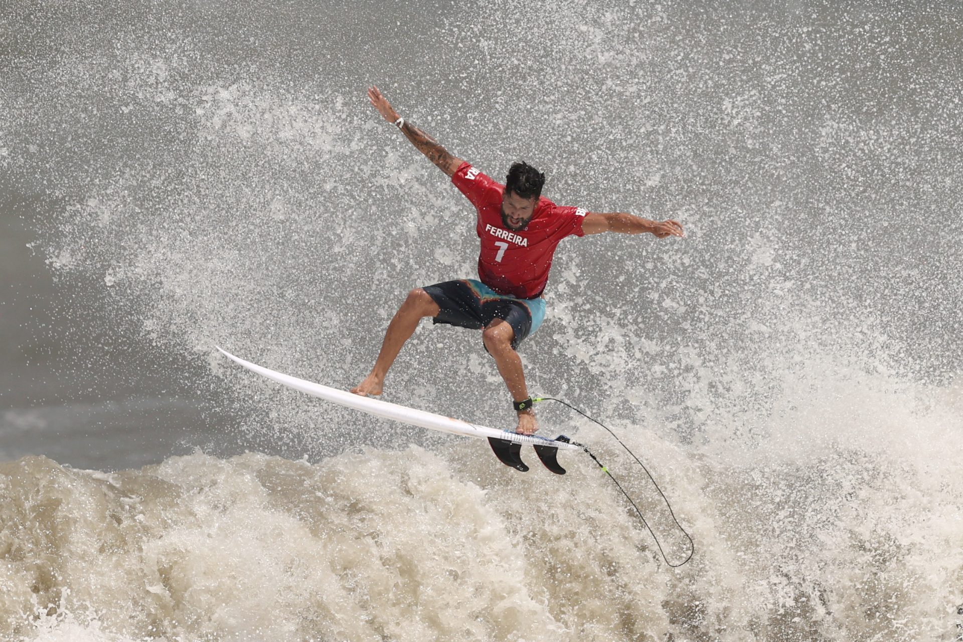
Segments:
[[[405,122],[377,87],[368,90],[368,98],[378,114],[401,129],[408,141],[450,176],[455,187],[475,206],[476,231],[481,239],[481,280],[446,281],[409,292],[388,324],[374,368],[351,392],[381,394],[385,374],[424,317],[431,317],[435,323],[483,328],[481,340],[494,357],[518,414],[515,430],[533,434],[538,423],[525,385],[522,360],[515,348],[545,318],[545,299],[541,295],[556,246],[569,235],[600,232],[649,232],[660,239],[681,237],[682,225],[676,220],[659,222],[623,212],[600,214],[560,207],[541,195],[545,176],[525,163],[508,169],[505,185],[497,183]]]

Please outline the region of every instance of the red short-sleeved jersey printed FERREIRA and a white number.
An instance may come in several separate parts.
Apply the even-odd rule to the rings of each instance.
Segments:
[[[560,207],[541,196],[529,224],[509,230],[502,222],[504,185],[468,163],[458,166],[452,183],[478,210],[479,278],[499,294],[518,298],[540,295],[559,242],[570,234],[585,236],[582,221],[586,211],[581,208]]]

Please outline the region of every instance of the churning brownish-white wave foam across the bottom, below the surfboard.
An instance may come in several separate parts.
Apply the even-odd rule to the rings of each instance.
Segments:
[[[195,453],[111,475],[24,458],[0,465],[0,626],[23,640],[949,639],[963,484],[943,440],[963,425],[943,401],[903,400],[901,418],[861,406],[879,440],[804,445],[827,427],[846,438],[852,398],[837,400],[835,419],[792,424],[786,454],[619,430],[696,542],[674,571],[582,456],[563,477],[518,474],[474,440],[315,464]],[[944,446],[914,457],[891,422]],[[602,430],[580,438],[681,560],[644,475]]]

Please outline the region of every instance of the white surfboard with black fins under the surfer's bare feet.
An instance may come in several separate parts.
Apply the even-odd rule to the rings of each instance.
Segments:
[[[525,466],[525,464],[522,463],[518,458],[518,449],[521,446],[533,446],[545,466],[553,473],[558,473],[560,475],[562,475],[564,471],[558,466],[558,462],[554,461],[555,449],[581,449],[581,446],[568,442],[567,438],[565,437],[560,437],[560,440],[564,440],[560,441],[548,439],[546,437],[540,437],[538,435],[520,435],[515,432],[509,432],[508,430],[498,430],[496,428],[489,428],[484,425],[470,424],[468,422],[453,419],[451,417],[436,415],[426,410],[408,408],[397,403],[390,403],[388,401],[381,401],[380,399],[369,397],[361,397],[344,390],[329,388],[328,386],[324,386],[320,383],[314,383],[312,381],[307,381],[306,379],[299,379],[298,377],[291,376],[290,374],[275,372],[265,368],[264,366],[258,366],[257,364],[245,361],[240,357],[236,357],[221,347],[215,347],[221,350],[221,353],[224,356],[241,364],[247,368],[247,370],[257,372],[258,374],[266,376],[269,379],[273,379],[274,381],[288,386],[289,388],[294,388],[302,393],[307,393],[312,397],[323,398],[327,401],[332,401],[334,403],[348,406],[349,408],[354,408],[355,410],[360,410],[361,412],[366,412],[369,415],[375,415],[376,417],[382,417],[384,419],[391,419],[396,422],[401,422],[402,424],[417,425],[423,428],[430,428],[431,430],[440,430],[441,432],[449,432],[455,435],[464,435],[466,437],[487,439],[488,443],[491,444],[492,449],[495,450],[495,454],[498,455],[499,459],[501,459],[508,466],[517,468],[520,471],[528,470],[528,467]],[[506,442],[507,444],[500,444],[501,442]],[[546,456],[552,461],[546,461]],[[508,460],[506,457],[508,457]],[[553,463],[555,467],[553,467]],[[556,468],[558,468],[558,470],[556,470]]]

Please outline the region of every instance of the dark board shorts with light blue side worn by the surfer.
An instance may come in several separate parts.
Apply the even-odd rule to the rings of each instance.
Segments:
[[[511,339],[512,349],[516,349],[518,344],[545,321],[544,298],[499,295],[475,279],[435,283],[422,290],[441,308],[433,322],[478,330],[495,319],[501,319],[515,331],[515,336]]]

